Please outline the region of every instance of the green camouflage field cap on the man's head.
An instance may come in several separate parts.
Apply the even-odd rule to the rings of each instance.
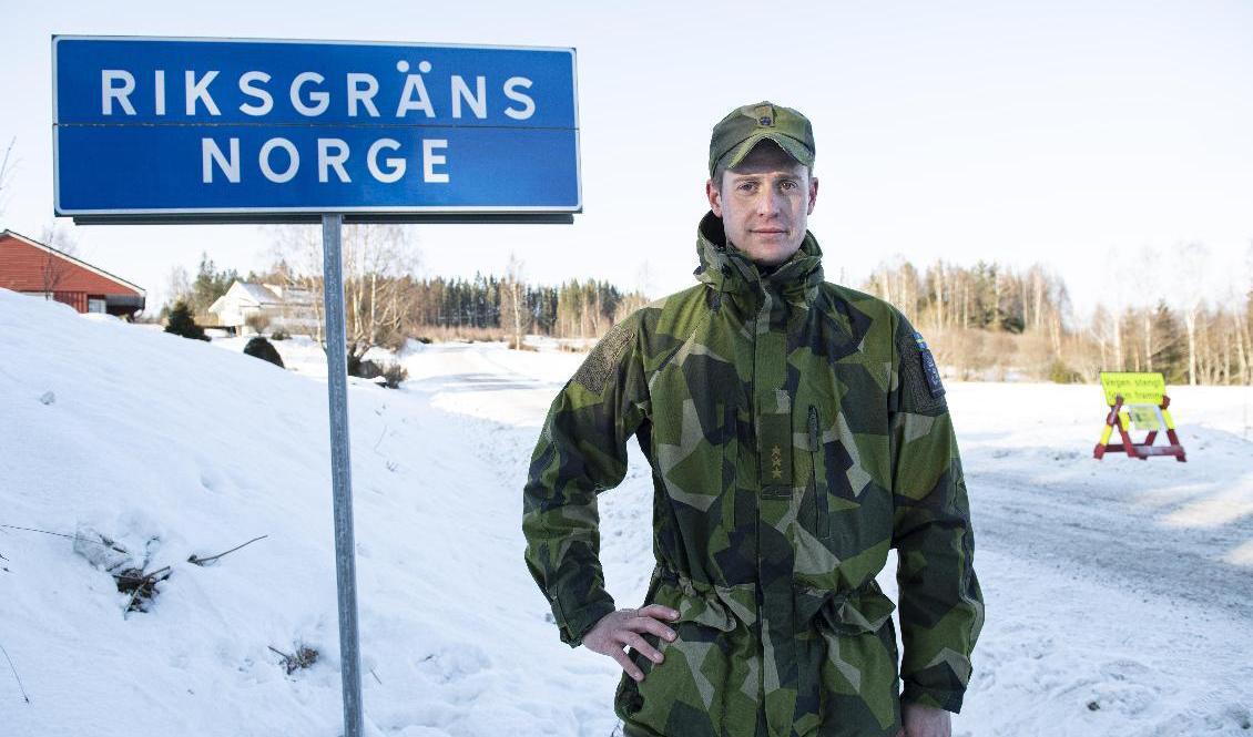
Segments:
[[[816,152],[809,119],[792,108],[769,102],[744,105],[727,114],[713,127],[709,138],[709,175],[718,164],[730,169],[763,140],[773,140],[806,167],[813,165]]]

